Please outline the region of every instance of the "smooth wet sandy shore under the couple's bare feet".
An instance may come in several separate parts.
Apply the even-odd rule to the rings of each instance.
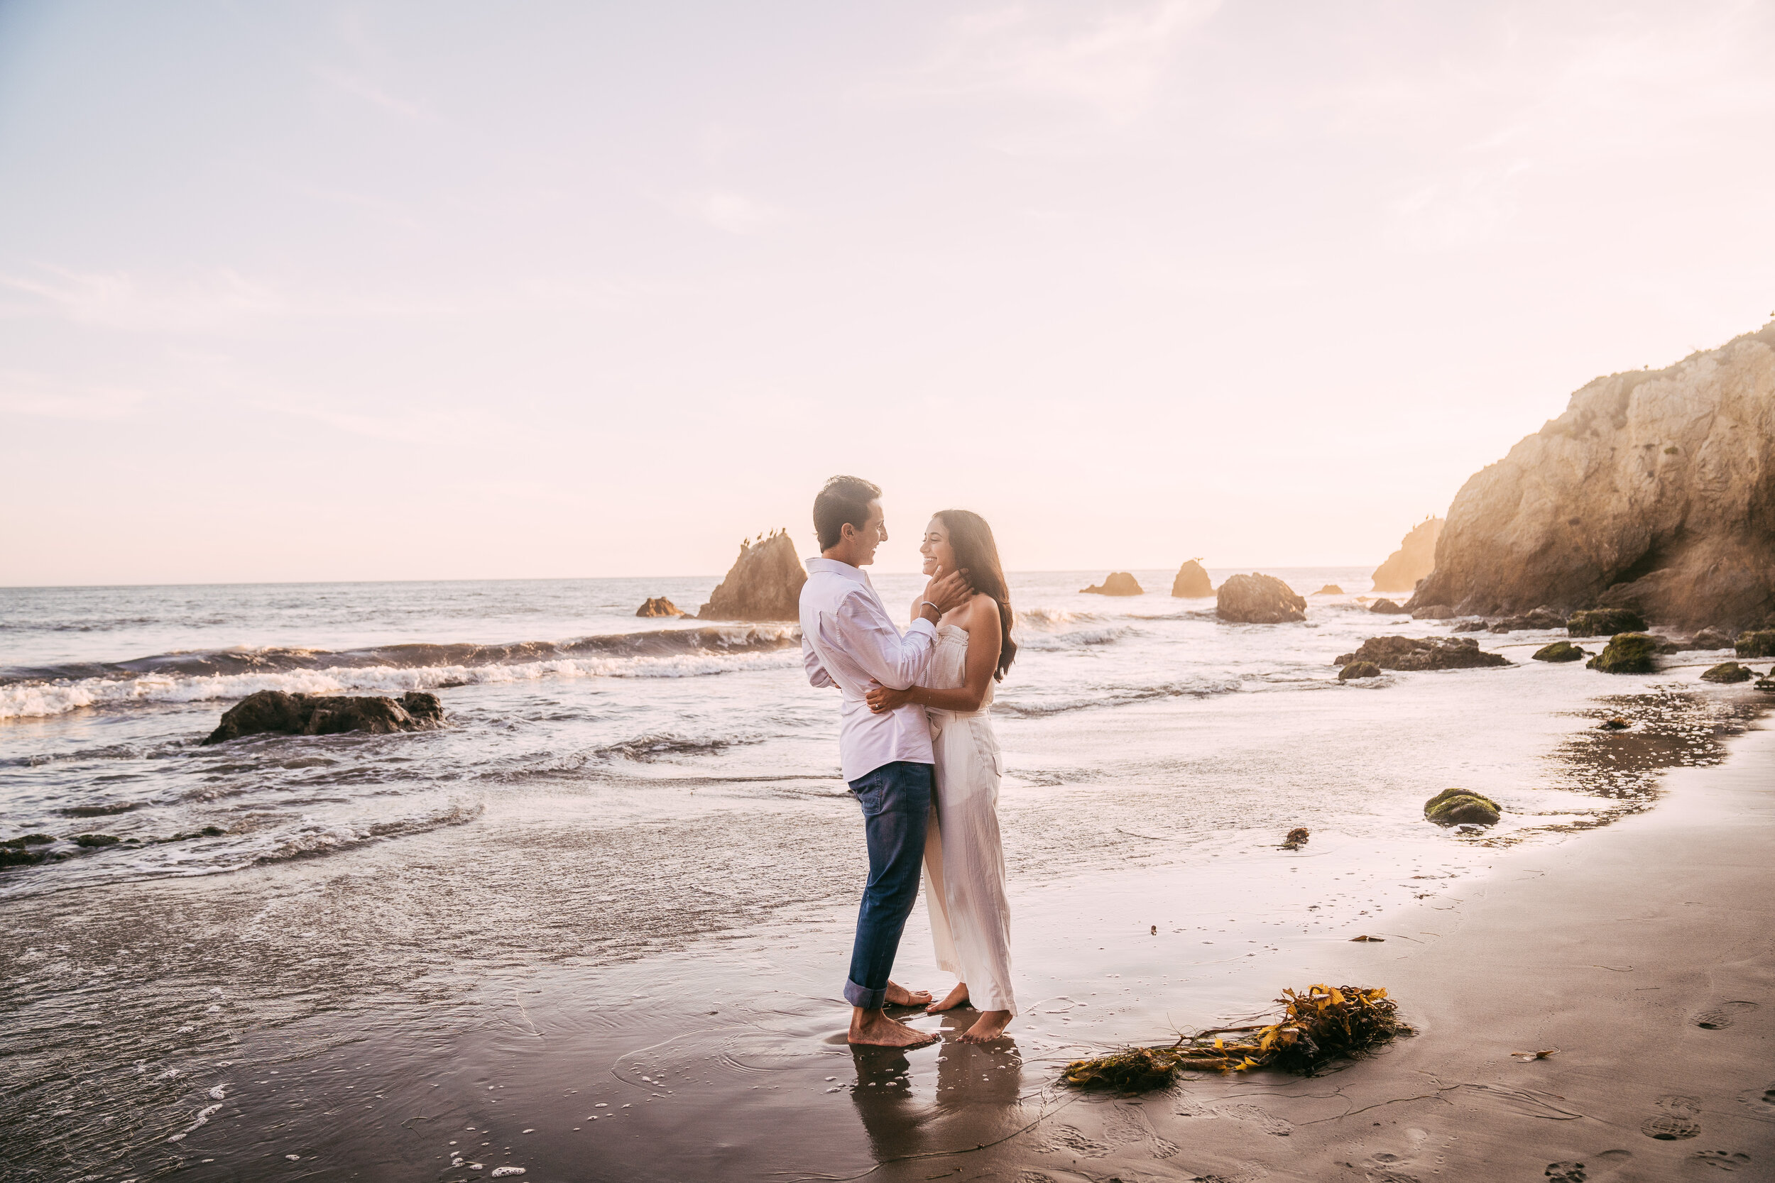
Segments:
[[[1569,745],[1587,775],[1631,782],[1635,807],[1658,768],[1718,757],[1706,718],[1658,733],[1668,708],[1640,709],[1635,733],[1585,722]],[[1115,802],[1116,844],[1092,842],[1086,871],[1056,873],[1077,844],[1054,837],[1045,871],[1014,874],[1022,1013],[983,1048],[843,1043],[845,802],[616,834],[586,825],[595,802],[580,818],[515,798],[309,864],[18,901],[4,1071],[41,1140],[0,1172],[1759,1178],[1775,1162],[1775,734],[1725,750],[1608,827],[1431,855],[1321,827],[1299,851],[1228,835],[1179,857],[1163,819]],[[1044,793],[1014,827],[1090,809]],[[604,912],[628,921],[625,947],[588,936]],[[948,984],[923,910],[896,975]],[[1054,1087],[1076,1055],[1328,979],[1388,986],[1422,1034],[1314,1080]],[[971,1015],[914,1022],[953,1034]],[[1647,1121],[1699,1133],[1660,1140]]]

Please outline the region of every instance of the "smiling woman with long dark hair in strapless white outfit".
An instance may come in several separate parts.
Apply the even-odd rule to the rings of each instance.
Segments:
[[[1005,678],[1017,644],[1010,639],[1010,592],[992,527],[976,513],[944,509],[918,548],[925,573],[967,571],[974,596],[937,623],[937,651],[925,681],[911,690],[877,688],[872,711],[903,702],[925,708],[937,759],[937,807],[925,837],[930,935],[937,965],[960,981],[930,1013],[971,1002],[980,1018],[962,1043],[998,1039],[1017,1006],[1010,990],[1010,906],[1005,901],[1005,851],[998,834],[998,784],[1003,773],[987,708],[992,683]],[[914,605],[914,612],[918,605]]]

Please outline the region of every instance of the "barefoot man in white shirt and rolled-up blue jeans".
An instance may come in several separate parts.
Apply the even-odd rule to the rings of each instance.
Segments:
[[[813,498],[820,557],[808,560],[801,589],[801,653],[808,681],[843,693],[838,752],[850,793],[863,805],[870,850],[870,881],[857,910],[850,951],[850,1043],[916,1048],[935,1036],[888,1018],[882,1009],[928,1002],[889,981],[900,931],[918,899],[925,857],[935,757],[925,708],[905,704],[875,715],[864,695],[875,686],[905,690],[918,681],[935,651],[937,621],[967,603],[966,571],[937,571],[912,626],[900,633],[863,568],[888,541],[880,488],[857,477],[832,477]]]

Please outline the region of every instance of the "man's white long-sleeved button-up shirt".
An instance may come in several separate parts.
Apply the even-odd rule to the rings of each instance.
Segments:
[[[875,686],[905,690],[935,653],[937,628],[919,617],[902,635],[870,576],[848,562],[809,559],[801,589],[801,656],[808,681],[838,686],[838,756],[845,780],[866,777],[896,759],[932,764],[925,708],[907,702],[875,715],[866,695]]]

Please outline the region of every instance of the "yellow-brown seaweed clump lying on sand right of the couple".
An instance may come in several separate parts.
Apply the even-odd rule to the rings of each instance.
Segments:
[[[1383,988],[1308,986],[1283,990],[1282,1018],[1269,1025],[1214,1027],[1159,1048],[1124,1048],[1067,1064],[1061,1080],[1083,1089],[1145,1093],[1180,1071],[1280,1068],[1312,1077],[1326,1064],[1354,1059],[1393,1036],[1413,1034]]]

